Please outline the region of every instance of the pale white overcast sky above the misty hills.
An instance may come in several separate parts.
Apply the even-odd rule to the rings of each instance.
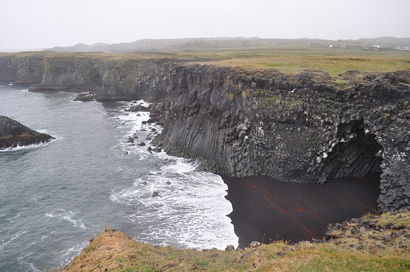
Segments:
[[[0,51],[142,38],[410,36],[410,0],[0,0]]]

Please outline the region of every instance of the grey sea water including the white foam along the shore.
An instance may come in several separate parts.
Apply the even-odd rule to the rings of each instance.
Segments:
[[[0,83],[0,115],[56,138],[0,151],[0,271],[64,266],[107,227],[179,248],[238,245],[220,176],[149,153],[161,128],[128,102],[74,97]],[[130,146],[134,133],[147,145]]]

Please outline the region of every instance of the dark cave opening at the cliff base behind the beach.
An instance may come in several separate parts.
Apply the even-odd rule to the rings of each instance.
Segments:
[[[340,124],[337,137],[339,142],[323,160],[321,175],[329,180],[363,178],[372,172],[380,183],[383,148],[376,141],[375,134],[365,131],[363,120]]]

